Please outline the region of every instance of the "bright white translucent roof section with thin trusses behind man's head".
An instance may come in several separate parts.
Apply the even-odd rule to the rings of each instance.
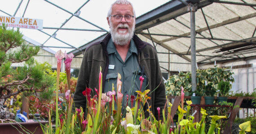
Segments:
[[[106,16],[115,0],[3,0],[0,16],[42,19],[43,29],[20,29],[53,51],[70,52],[109,31]],[[169,0],[130,0],[137,16]],[[143,5],[143,6],[142,6]],[[60,48],[58,48],[60,47]]]

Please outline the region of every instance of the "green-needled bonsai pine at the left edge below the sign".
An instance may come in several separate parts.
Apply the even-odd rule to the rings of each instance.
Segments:
[[[0,26],[0,119],[12,118],[3,109],[11,96],[41,92],[52,85],[53,80],[32,58],[40,47],[29,47],[22,36],[19,30]],[[23,67],[11,67],[12,63],[23,63]]]

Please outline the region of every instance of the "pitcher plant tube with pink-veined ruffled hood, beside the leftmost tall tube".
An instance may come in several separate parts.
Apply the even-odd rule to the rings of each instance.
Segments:
[[[65,55],[65,70],[66,70],[66,80],[67,80],[67,86],[68,86],[68,90],[70,89],[70,70],[71,70],[71,62],[73,60],[74,54],[70,53],[70,54],[66,54],[66,52],[64,53]]]

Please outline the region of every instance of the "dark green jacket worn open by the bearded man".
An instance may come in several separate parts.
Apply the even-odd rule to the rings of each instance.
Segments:
[[[91,46],[88,46],[85,50],[74,95],[75,107],[77,108],[81,106],[83,109],[86,109],[86,98],[82,94],[86,87],[92,88],[93,90],[94,88],[98,89],[100,67],[102,67],[103,74],[102,84],[105,84],[109,66],[106,48],[110,39],[111,35],[107,34],[101,42],[96,42]],[[148,100],[149,105],[151,105],[151,111],[157,118],[157,107],[160,107],[162,117],[162,109],[166,103],[166,96],[165,85],[163,83],[156,50],[149,43],[141,41],[136,35],[133,36],[133,41],[138,50],[138,63],[141,68],[144,67],[144,73],[148,79],[148,86],[146,89],[150,89],[150,91],[155,89],[154,92],[151,92],[149,95],[151,99]],[[104,85],[102,87],[104,87]],[[146,113],[146,117],[148,116],[149,114]]]

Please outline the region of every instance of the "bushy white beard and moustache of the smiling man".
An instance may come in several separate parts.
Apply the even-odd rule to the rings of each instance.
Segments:
[[[118,31],[118,28],[127,28],[128,33],[124,34],[127,31],[126,30]],[[133,37],[134,29],[135,29],[135,21],[133,21],[132,28],[129,28],[129,25],[125,23],[125,24],[117,25],[117,27],[115,29],[113,28],[113,25],[110,21],[110,34],[111,34],[112,41],[116,45],[124,46],[124,45],[128,44],[128,42],[130,42],[130,40]]]

